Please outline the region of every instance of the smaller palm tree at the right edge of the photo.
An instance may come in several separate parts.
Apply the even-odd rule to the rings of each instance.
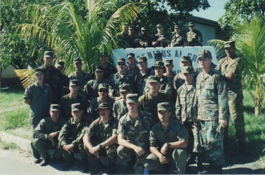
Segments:
[[[261,114],[265,104],[265,17],[256,13],[250,22],[234,26],[230,40],[235,40],[236,52],[243,58],[243,87],[255,102],[255,115]],[[224,41],[210,40],[219,55],[224,53]]]

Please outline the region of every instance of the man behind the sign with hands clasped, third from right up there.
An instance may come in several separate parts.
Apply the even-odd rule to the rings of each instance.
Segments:
[[[152,44],[154,47],[167,47],[171,44],[170,36],[164,33],[162,24],[157,24],[158,33],[154,35]]]

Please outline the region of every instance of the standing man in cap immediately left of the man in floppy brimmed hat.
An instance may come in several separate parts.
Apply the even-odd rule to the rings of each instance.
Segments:
[[[138,94],[138,96],[142,96],[144,94],[144,87],[146,84],[146,81],[148,79],[148,69],[147,69],[147,58],[146,57],[139,57],[138,58],[138,66],[140,68],[140,72],[135,77],[135,93]]]

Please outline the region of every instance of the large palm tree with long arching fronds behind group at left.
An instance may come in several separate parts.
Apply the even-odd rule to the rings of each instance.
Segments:
[[[111,14],[115,9],[113,3],[107,0],[87,0],[87,16],[84,17],[75,10],[73,3],[55,2],[28,6],[25,14],[31,16],[31,23],[17,27],[21,29],[22,38],[30,37],[35,40],[34,49],[40,45],[46,46],[40,49],[40,58],[46,49],[51,48],[57,59],[63,59],[66,74],[74,71],[74,58],[81,58],[84,62],[83,70],[89,72],[97,64],[101,53],[111,53],[112,49],[117,48],[114,36],[124,23],[137,17],[140,10],[137,5],[142,4],[130,3],[116,8],[117,11]],[[28,71],[16,72],[19,77],[29,75]],[[32,78],[28,78],[26,84],[24,82],[24,87],[29,82],[32,82]]]

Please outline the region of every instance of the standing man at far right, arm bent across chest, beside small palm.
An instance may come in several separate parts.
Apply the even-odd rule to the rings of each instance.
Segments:
[[[243,113],[242,72],[243,60],[235,54],[235,42],[224,43],[226,58],[221,59],[215,70],[221,72],[227,84],[229,113],[236,129],[237,153],[242,153],[245,140],[245,124]],[[228,126],[224,132],[224,140],[228,141]]]

